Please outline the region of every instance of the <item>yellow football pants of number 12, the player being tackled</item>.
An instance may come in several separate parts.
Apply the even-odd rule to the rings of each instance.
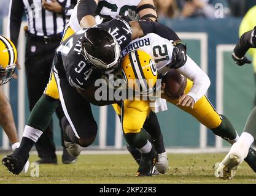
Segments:
[[[185,94],[187,94],[192,88],[192,81],[187,79],[187,86],[185,88]],[[176,105],[179,102],[179,99],[170,99],[165,94],[161,94],[163,99],[166,99],[168,102]],[[149,115],[150,107],[148,101],[143,100],[125,100],[123,102],[123,111],[122,111],[122,125],[123,132],[127,133],[136,133],[139,132],[144,124],[145,119]],[[117,104],[113,104],[114,110],[118,115],[121,115],[121,108]],[[200,100],[196,102],[194,108],[178,106],[180,109],[194,116],[200,123],[209,129],[214,129],[219,127],[222,120],[220,119],[219,114],[212,107],[211,102],[206,98],[206,96],[201,97]]]

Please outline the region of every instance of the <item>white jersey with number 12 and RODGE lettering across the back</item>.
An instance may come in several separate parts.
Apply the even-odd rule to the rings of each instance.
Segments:
[[[168,40],[157,34],[150,33],[144,37],[134,39],[124,50],[122,55],[125,56],[128,52],[140,49],[148,53],[157,64],[158,73],[165,75],[169,71],[166,67],[171,63],[173,56],[173,40]]]

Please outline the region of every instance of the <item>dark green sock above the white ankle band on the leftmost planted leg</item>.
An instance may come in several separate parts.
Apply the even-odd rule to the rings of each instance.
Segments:
[[[44,131],[52,119],[52,115],[58,107],[59,102],[45,94],[36,102],[33,110],[31,111],[28,126],[35,127],[36,129]]]

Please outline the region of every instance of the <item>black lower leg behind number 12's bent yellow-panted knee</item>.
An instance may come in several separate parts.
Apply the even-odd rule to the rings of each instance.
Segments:
[[[165,153],[163,135],[161,134],[157,115],[153,113],[153,111],[150,111],[149,117],[145,120],[143,128],[150,135],[150,141],[153,143],[153,146],[155,147],[157,153]]]

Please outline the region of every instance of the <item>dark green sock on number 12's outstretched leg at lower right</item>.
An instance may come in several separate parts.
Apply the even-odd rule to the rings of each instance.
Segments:
[[[220,123],[219,127],[211,129],[215,135],[222,137],[224,140],[227,140],[229,143],[231,141],[236,140],[237,133],[234,129],[233,125],[230,123],[226,116],[220,115],[222,117],[222,123]]]

